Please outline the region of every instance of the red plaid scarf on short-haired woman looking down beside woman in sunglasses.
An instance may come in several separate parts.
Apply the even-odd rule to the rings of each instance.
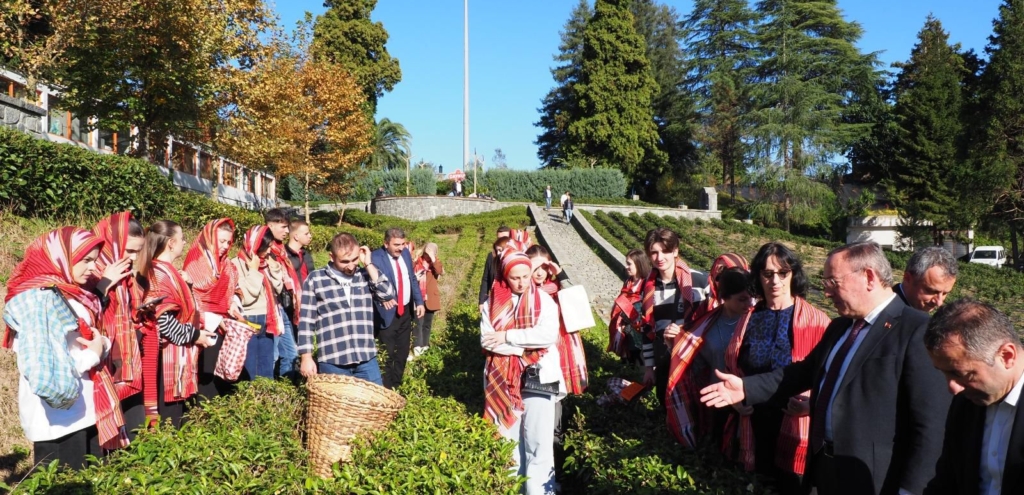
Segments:
[[[666,391],[669,430],[676,437],[676,441],[689,449],[695,449],[713,426],[710,410],[700,404],[700,389],[711,382],[713,371],[693,373],[690,365],[700,354],[705,333],[715,327],[721,316],[721,306],[712,310],[693,324],[692,331],[687,329],[681,332],[672,346],[672,364],[669,367],[669,386]],[[741,333],[750,318],[750,312],[739,317],[733,335]],[[695,376],[698,374],[701,376]]]

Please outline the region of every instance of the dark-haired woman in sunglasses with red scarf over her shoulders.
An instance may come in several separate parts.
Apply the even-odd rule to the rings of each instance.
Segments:
[[[821,339],[829,319],[804,298],[803,262],[785,245],[761,246],[751,263],[751,289],[760,299],[750,322],[732,336],[726,373],[750,376],[801,361]],[[807,458],[809,391],[739,408],[726,427],[726,448],[748,470],[775,479],[782,494],[799,493]]]

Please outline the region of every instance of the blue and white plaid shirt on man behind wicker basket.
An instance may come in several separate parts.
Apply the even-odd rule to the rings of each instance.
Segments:
[[[376,283],[370,282],[365,269],[350,278],[331,265],[309,274],[302,284],[299,355],[312,353],[315,342],[321,363],[346,366],[375,358],[374,298],[394,297],[384,274],[378,275]]]

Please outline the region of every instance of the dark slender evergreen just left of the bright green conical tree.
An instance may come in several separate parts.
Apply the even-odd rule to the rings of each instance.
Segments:
[[[551,76],[556,86],[548,91],[543,99],[541,120],[536,126],[544,132],[534,141],[538,146],[537,157],[544,167],[564,167],[566,162],[564,145],[569,122],[578,115],[578,105],[572,85],[580,79],[580,66],[583,63],[583,31],[587,27],[593,12],[587,0],[580,0],[569,19],[561,32],[561,43],[555,61],[558,66],[551,69]]]

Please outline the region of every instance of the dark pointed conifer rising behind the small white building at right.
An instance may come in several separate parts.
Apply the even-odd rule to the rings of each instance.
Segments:
[[[929,15],[910,59],[895,67],[896,132],[883,184],[901,215],[931,222],[933,230],[954,228],[957,179],[966,175],[957,152],[964,59],[942,24]]]

